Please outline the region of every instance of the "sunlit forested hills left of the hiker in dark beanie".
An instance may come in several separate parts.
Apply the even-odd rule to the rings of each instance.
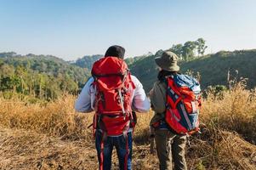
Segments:
[[[0,54],[0,91],[55,99],[64,91],[76,94],[87,80],[87,69],[51,55]]]

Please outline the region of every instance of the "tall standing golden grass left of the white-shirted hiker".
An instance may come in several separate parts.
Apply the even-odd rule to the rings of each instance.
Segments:
[[[28,104],[19,99],[0,99],[0,123],[3,127],[24,128],[63,139],[88,138],[91,117],[74,111],[75,97],[65,95],[47,105]]]

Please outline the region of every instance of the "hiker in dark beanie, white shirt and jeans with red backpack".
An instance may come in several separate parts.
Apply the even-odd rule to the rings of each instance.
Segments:
[[[139,80],[131,76],[123,60],[125,49],[111,46],[105,57],[96,61],[92,77],[82,88],[75,109],[95,111],[94,132],[100,170],[111,169],[111,154],[116,147],[119,169],[132,169],[134,111],[150,110],[150,102]]]

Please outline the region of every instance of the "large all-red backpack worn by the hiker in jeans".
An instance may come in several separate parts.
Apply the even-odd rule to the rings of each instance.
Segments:
[[[93,127],[106,135],[120,135],[134,126],[131,92],[135,88],[123,59],[105,57],[92,68],[96,99]]]

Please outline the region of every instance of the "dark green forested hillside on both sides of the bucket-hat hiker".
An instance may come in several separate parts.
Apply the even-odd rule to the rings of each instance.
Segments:
[[[149,91],[156,81],[157,71],[154,58],[159,54],[151,55],[130,65],[134,76]],[[256,86],[256,49],[239,50],[234,52],[220,51],[217,54],[210,54],[192,59],[191,61],[179,61],[181,72],[199,72],[202,88],[214,85],[227,85],[228,72],[231,79],[240,77],[248,78],[248,88]]]

